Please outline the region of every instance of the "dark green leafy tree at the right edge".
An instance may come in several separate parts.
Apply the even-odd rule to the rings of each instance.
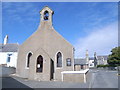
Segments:
[[[111,50],[112,54],[108,56],[108,64],[110,66],[120,66],[120,46]]]

